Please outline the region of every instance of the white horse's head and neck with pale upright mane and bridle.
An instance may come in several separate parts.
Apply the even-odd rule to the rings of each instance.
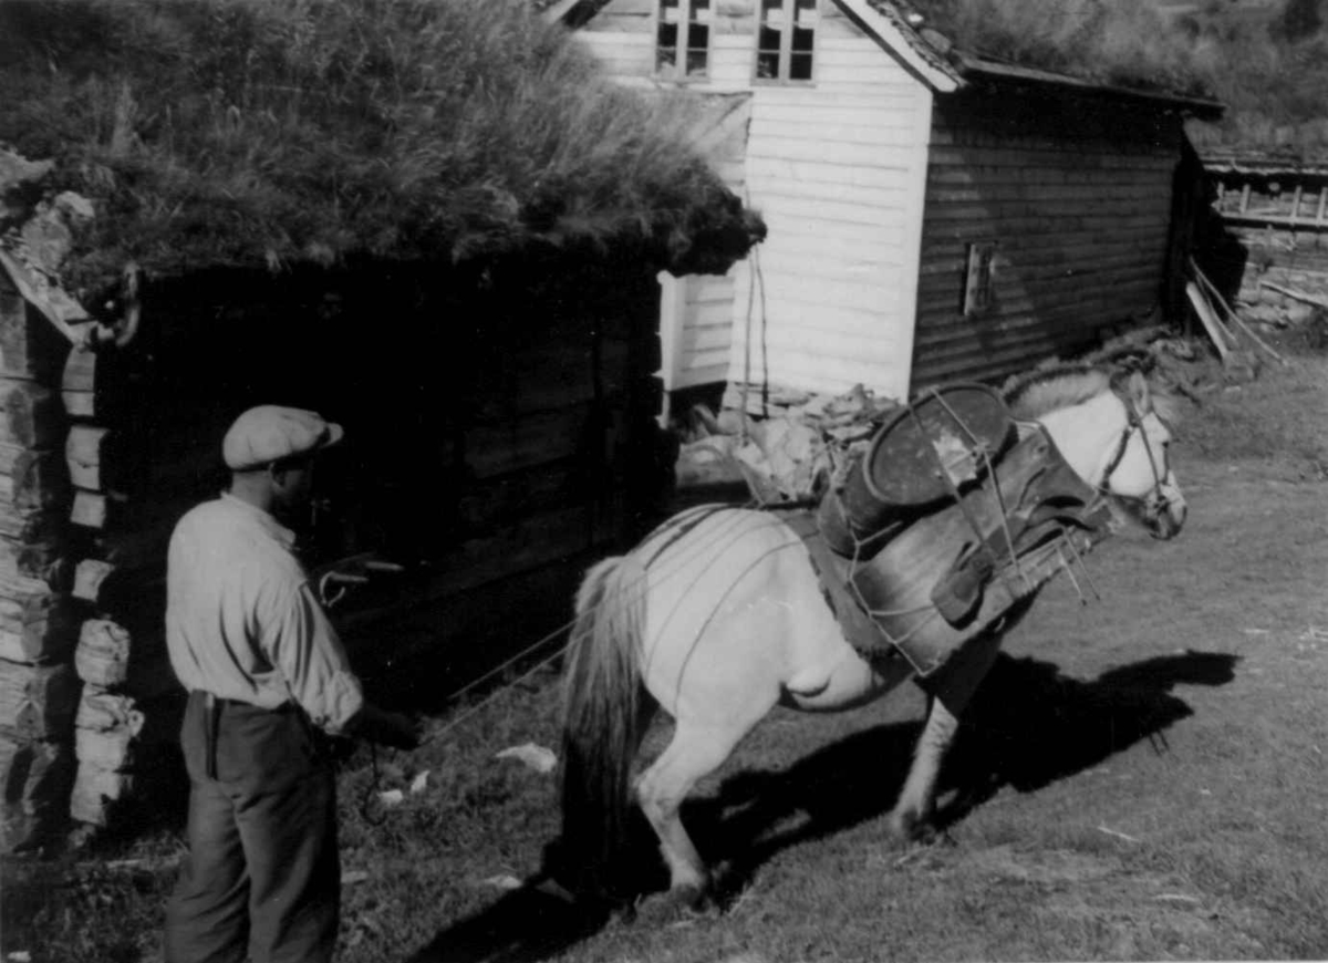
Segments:
[[[1118,514],[1154,538],[1173,538],[1186,505],[1171,470],[1174,400],[1139,372],[1101,368],[1042,372],[1007,394],[1016,416],[1046,428],[1072,469],[1108,495]]]

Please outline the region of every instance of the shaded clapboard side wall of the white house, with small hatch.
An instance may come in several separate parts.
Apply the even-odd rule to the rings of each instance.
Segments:
[[[1174,116],[1027,93],[938,98],[914,380],[991,380],[1096,343],[1163,298]],[[968,246],[993,304],[964,315]]]

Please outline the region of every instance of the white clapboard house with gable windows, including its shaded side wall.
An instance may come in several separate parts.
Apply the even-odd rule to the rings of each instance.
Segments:
[[[671,393],[896,398],[996,379],[1165,300],[1186,116],[1220,106],[995,62],[891,0],[563,0],[624,84],[709,105],[703,142],[769,238],[664,278]],[[730,393],[732,400],[732,393]]]

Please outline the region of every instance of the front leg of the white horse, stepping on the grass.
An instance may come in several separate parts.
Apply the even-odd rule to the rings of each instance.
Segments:
[[[912,768],[890,813],[890,832],[902,839],[926,839],[935,832],[936,780],[959,731],[959,715],[987,676],[1004,632],[985,632],[956,652],[948,664],[922,683],[927,693],[927,724],[914,748]]]

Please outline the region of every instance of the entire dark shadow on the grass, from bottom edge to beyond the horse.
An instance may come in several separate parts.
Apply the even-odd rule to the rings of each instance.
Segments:
[[[1032,792],[1142,740],[1166,750],[1166,729],[1193,715],[1171,689],[1223,685],[1235,677],[1236,661],[1234,655],[1187,651],[1082,681],[1050,663],[1000,655],[946,758],[939,828],[954,825],[1003,786]],[[718,867],[721,894],[741,890],[789,846],[887,813],[920,729],[920,721],[865,729],[788,769],[740,772],[713,796],[687,804],[683,818],[703,857]],[[668,877],[657,841],[644,820],[639,824],[624,862],[640,867],[631,882],[648,894],[667,887]],[[591,935],[606,919],[603,913],[583,915],[574,905],[527,887],[444,930],[412,960],[539,960]]]

